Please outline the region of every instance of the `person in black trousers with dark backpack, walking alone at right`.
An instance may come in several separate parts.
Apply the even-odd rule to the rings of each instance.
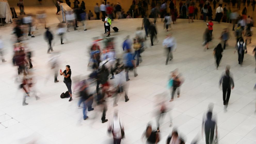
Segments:
[[[231,89],[234,89],[234,86],[235,86],[233,78],[229,74],[229,68],[226,68],[225,74],[220,78],[219,84],[221,85],[221,83],[222,83],[222,91],[223,91],[223,105],[228,106]],[[226,97],[226,93],[227,93],[227,97]]]

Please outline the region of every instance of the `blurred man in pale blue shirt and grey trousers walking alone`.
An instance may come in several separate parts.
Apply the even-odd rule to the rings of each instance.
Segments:
[[[176,41],[175,38],[172,37],[172,34],[167,35],[167,37],[164,39],[163,41],[163,46],[166,47],[166,61],[165,61],[165,65],[168,64],[168,59],[169,59],[169,55],[170,55],[170,61],[173,59],[173,55],[172,55],[172,51],[176,50]]]

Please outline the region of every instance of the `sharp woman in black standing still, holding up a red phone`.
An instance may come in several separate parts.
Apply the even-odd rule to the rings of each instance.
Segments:
[[[63,72],[60,70],[60,75],[64,76],[64,83],[66,84],[67,88],[68,88],[68,93],[70,95],[70,99],[69,101],[73,100],[72,99],[72,90],[71,90],[71,69],[69,65],[66,65],[66,70],[64,70]]]

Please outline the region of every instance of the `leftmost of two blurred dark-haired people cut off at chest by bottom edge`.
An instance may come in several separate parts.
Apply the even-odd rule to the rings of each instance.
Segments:
[[[147,126],[146,131],[141,136],[141,140],[143,140],[144,137],[147,138],[147,144],[156,144],[160,141],[160,135],[152,131],[151,125]]]

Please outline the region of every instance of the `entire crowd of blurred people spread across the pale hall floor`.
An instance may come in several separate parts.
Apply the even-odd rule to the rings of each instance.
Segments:
[[[22,2],[22,0],[20,0]],[[216,9],[216,16],[213,20],[212,18],[212,8],[210,6],[209,1],[199,2],[200,11],[202,14],[202,20],[206,21],[206,17],[208,17],[209,22],[206,23],[205,33],[204,33],[204,42],[205,51],[209,49],[209,43],[213,39],[213,21],[220,22],[233,22],[233,31],[236,37],[236,44],[235,44],[235,52],[238,53],[238,64],[242,66],[244,54],[247,53],[246,45],[251,44],[252,41],[252,26],[253,20],[250,16],[246,15],[246,7],[243,10],[241,15],[238,15],[236,12],[231,13],[230,8],[227,9],[225,6],[222,8],[223,2],[222,0],[219,1],[219,6]],[[228,0],[229,1],[229,0]],[[227,1],[227,4],[229,2]],[[231,1],[233,4],[233,0]],[[56,3],[57,13],[59,14],[59,4],[62,1],[58,0]],[[69,0],[66,3],[70,6]],[[213,0],[213,8],[215,9],[216,0]],[[85,3],[82,1],[81,5],[79,6],[80,2],[76,0],[74,2],[74,9],[71,12],[66,13],[66,20],[67,20],[67,28],[63,25],[63,23],[59,23],[57,26],[57,35],[60,36],[61,44],[63,43],[63,37],[65,37],[65,33],[69,32],[68,28],[69,25],[72,24],[74,30],[77,30],[77,21],[81,21],[84,26],[84,30],[87,30],[85,27],[84,21],[89,19],[93,20],[94,15],[91,11],[89,14],[85,13]],[[179,14],[178,10],[173,3],[170,1],[170,13],[167,12],[167,1],[163,1],[162,3],[159,1],[152,1],[151,2],[151,12],[149,18],[154,18],[153,21],[150,21],[147,15],[145,14],[146,9],[148,9],[149,1],[143,0],[133,1],[131,6],[131,11],[127,12],[127,15],[131,15],[132,17],[138,18],[139,15],[143,17],[142,19],[142,26],[136,29],[136,34],[134,38],[131,38],[129,35],[126,36],[124,42],[122,43],[123,54],[122,57],[117,57],[116,55],[116,47],[115,47],[115,38],[110,37],[110,26],[111,22],[117,18],[121,19],[124,18],[124,13],[122,7],[119,3],[116,5],[110,4],[109,2],[102,2],[99,6],[96,3],[94,7],[94,13],[96,14],[96,19],[100,19],[100,14],[102,14],[102,21],[104,21],[104,28],[105,33],[108,35],[102,38],[94,38],[92,44],[89,49],[89,63],[88,69],[91,71],[89,76],[85,79],[80,80],[79,82],[75,83],[75,88],[79,91],[79,101],[78,101],[78,108],[83,108],[83,119],[88,119],[87,112],[94,110],[95,107],[99,107],[102,111],[101,121],[105,123],[108,121],[106,119],[106,111],[107,111],[107,103],[106,99],[113,99],[113,107],[118,106],[118,101],[121,95],[124,96],[124,101],[128,102],[128,81],[129,72],[133,71],[134,77],[138,76],[137,69],[142,62],[142,53],[147,49],[146,40],[148,35],[150,35],[150,43],[151,46],[154,46],[155,40],[158,43],[157,39],[157,29],[156,29],[156,18],[161,18],[165,25],[166,31],[169,31],[169,26],[176,21],[178,16],[180,18],[187,19],[188,22],[194,22],[194,19],[197,17],[198,9],[195,7],[195,2],[187,0],[185,3],[180,1],[179,4]],[[239,2],[238,2],[239,4]],[[250,1],[249,1],[250,4]],[[21,3],[20,3],[21,5]],[[138,8],[135,8],[137,5]],[[204,5],[204,6],[203,6]],[[226,4],[225,4],[226,5]],[[245,2],[244,2],[245,5]],[[253,0],[252,5],[255,7],[255,0]],[[234,6],[234,4],[233,4]],[[248,1],[247,1],[247,6]],[[240,6],[239,6],[240,7]],[[239,8],[238,7],[238,8]],[[253,8],[254,10],[254,8]],[[135,13],[134,13],[135,12]],[[229,16],[228,16],[229,15]],[[187,17],[188,16],[188,17]],[[225,21],[225,16],[226,21]],[[128,17],[128,16],[127,16]],[[15,21],[15,27],[12,30],[11,34],[15,35],[15,42],[13,45],[13,59],[12,63],[14,66],[17,67],[17,78],[16,82],[19,83],[19,88],[24,91],[22,105],[28,105],[26,103],[26,98],[30,97],[31,93],[34,94],[36,100],[40,99],[37,96],[36,89],[34,87],[35,82],[33,81],[33,74],[30,73],[29,69],[33,68],[32,60],[33,57],[32,51],[23,43],[23,41],[27,40],[27,35],[34,38],[34,33],[37,30],[37,23],[40,23],[46,29],[44,33],[44,38],[48,43],[49,47],[47,49],[47,53],[50,54],[50,51],[53,52],[53,45],[52,40],[54,38],[54,34],[52,33],[50,27],[46,27],[46,14],[44,11],[38,12],[37,15],[21,15],[21,17]],[[237,25],[236,25],[237,24]],[[236,26],[236,28],[235,28]],[[144,28],[145,33],[142,31]],[[66,30],[67,29],[67,30]],[[102,32],[103,33],[103,32]],[[222,52],[227,48],[226,43],[230,38],[230,34],[227,28],[223,29],[220,35],[220,43],[214,48],[213,55],[216,59],[216,67],[218,69],[221,58]],[[103,46],[101,47],[100,45]],[[177,42],[174,36],[171,33],[166,35],[166,38],[163,40],[162,45],[166,50],[166,61],[165,65],[168,65],[169,61],[174,59],[173,52],[177,48]],[[2,53],[3,42],[1,41],[0,37],[0,53],[2,56],[2,62],[6,62],[3,58]],[[256,47],[253,50],[254,57],[256,60]],[[64,94],[65,98],[69,98],[69,101],[73,100],[72,97],[72,80],[71,80],[71,66],[66,65],[65,70],[62,71],[59,65],[59,58],[58,53],[52,53],[50,59],[50,66],[51,69],[54,71],[54,82],[59,82],[57,77],[58,75],[63,76],[63,82],[67,87],[67,92]],[[256,68],[255,68],[256,72]],[[125,79],[124,79],[125,77]],[[174,95],[177,91],[177,98],[180,98],[181,93],[181,85],[185,79],[182,77],[181,73],[179,73],[178,69],[175,69],[171,72],[170,77],[168,79],[168,89],[170,89],[170,102],[174,101]],[[234,78],[233,74],[230,72],[230,66],[226,67],[225,72],[222,74],[221,79],[219,81],[219,85],[222,85],[223,91],[223,105],[225,108],[228,106],[231,90],[234,89]],[[256,86],[256,85],[255,85]],[[94,101],[96,101],[95,105],[93,105]],[[81,106],[83,104],[83,106]],[[94,106],[94,108],[93,108]],[[159,127],[160,122],[159,119],[163,117],[166,113],[168,113],[167,107],[164,103],[159,104],[159,111],[157,116],[157,130],[153,131],[152,126],[149,124],[146,128],[145,133],[142,134],[142,139],[146,137],[147,143],[158,143],[160,141],[159,135]],[[205,132],[206,143],[213,142],[213,135],[214,133],[217,135],[217,124],[212,119],[212,111],[209,110],[206,114],[206,119],[203,120],[202,124],[202,132]],[[172,121],[170,119],[170,126],[172,126]],[[204,127],[204,129],[203,129]],[[215,130],[215,131],[214,131]],[[111,121],[108,126],[108,132],[113,134],[114,143],[121,143],[121,140],[124,138],[124,125],[118,116],[118,112],[115,111],[113,117],[111,117]],[[172,134],[167,138],[166,143],[176,144],[176,143],[185,143],[181,137],[179,137],[177,130],[173,130]],[[196,142],[195,142],[196,143]]]

